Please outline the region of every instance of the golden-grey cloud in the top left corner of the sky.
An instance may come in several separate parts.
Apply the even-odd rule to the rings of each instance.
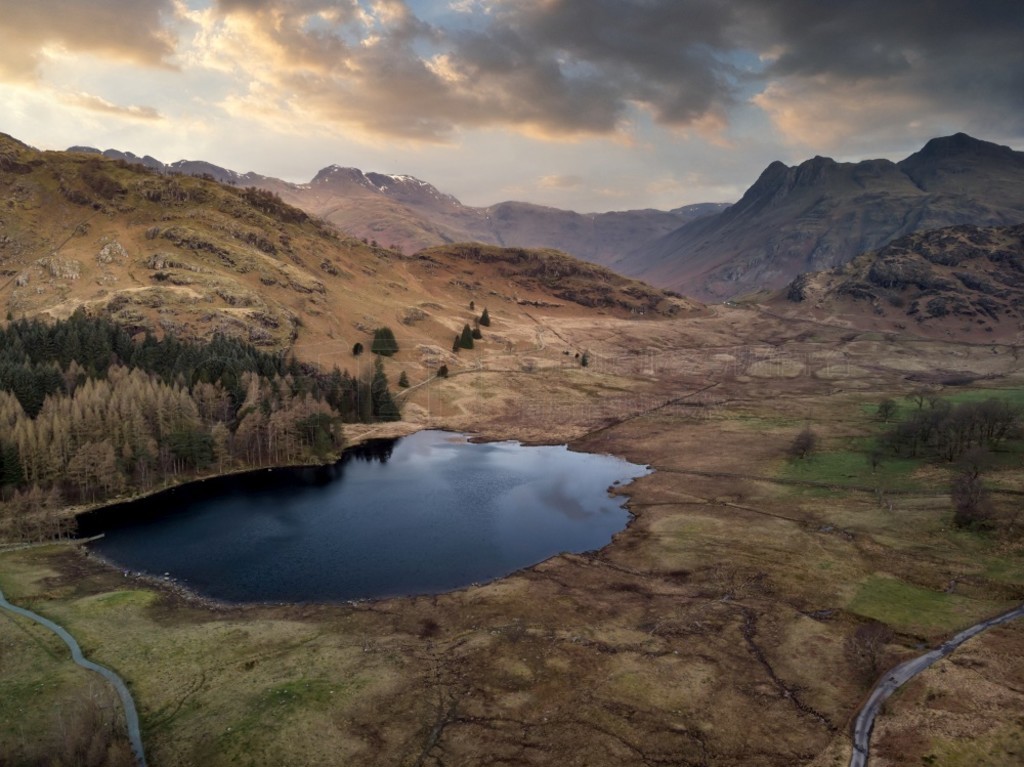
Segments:
[[[4,3],[0,79],[33,82],[48,48],[168,67],[174,40],[164,27],[172,0],[33,0]]]

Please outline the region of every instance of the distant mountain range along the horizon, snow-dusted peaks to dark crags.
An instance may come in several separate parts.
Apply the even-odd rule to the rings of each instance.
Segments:
[[[268,189],[356,238],[402,252],[455,242],[551,248],[706,301],[777,290],[802,272],[842,265],[916,231],[1024,222],[1024,153],[964,133],[934,138],[900,162],[774,162],[731,206],[597,214],[524,202],[473,208],[413,176],[338,165],[296,184],[202,161],[165,165],[102,154]]]

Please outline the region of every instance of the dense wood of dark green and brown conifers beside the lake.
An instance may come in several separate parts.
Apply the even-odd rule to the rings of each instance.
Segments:
[[[398,418],[379,358],[356,378],[223,336],[136,340],[81,311],[18,321],[0,330],[0,531],[58,537],[68,503],[325,460],[344,422]]]

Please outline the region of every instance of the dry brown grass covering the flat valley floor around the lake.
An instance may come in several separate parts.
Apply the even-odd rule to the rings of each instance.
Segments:
[[[0,583],[129,680],[155,765],[831,767],[867,684],[847,651],[857,628],[888,610],[886,657],[898,659],[1019,598],[1024,567],[1011,543],[951,531],[942,496],[893,496],[890,512],[870,489],[779,481],[785,448],[810,423],[839,450],[873,428],[866,407],[911,388],[905,370],[952,354],[1001,385],[1020,380],[1009,354],[985,347],[812,337],[748,310],[715,312],[513,322],[492,307],[493,332],[531,344],[534,371],[485,348],[480,370],[466,364],[411,394],[401,428],[571,440],[653,465],[625,491],[636,518],[596,555],[357,605],[204,606],[65,550],[4,555]],[[566,347],[600,364],[566,364]],[[12,631],[0,623],[12,663],[45,655]],[[968,683],[978,667],[947,670],[943,699],[971,702],[941,713],[956,726],[936,733],[973,727],[975,757],[1010,753],[1020,685],[1002,670],[1021,638],[1008,628],[965,648],[981,653],[986,683]],[[17,697],[40,722],[54,699]],[[894,699],[880,755],[927,756],[899,733],[938,722],[937,699]],[[954,754],[952,734],[928,737],[928,753]]]

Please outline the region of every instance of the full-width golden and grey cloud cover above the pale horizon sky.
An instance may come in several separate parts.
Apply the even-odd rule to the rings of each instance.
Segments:
[[[287,135],[458,145],[498,130],[563,146],[644,136],[736,150],[760,138],[751,125],[767,125],[793,146],[835,153],[907,132],[1024,134],[1024,3],[1002,0],[7,5],[0,79],[45,82],[51,59],[80,53],[127,62],[122,84],[139,68],[178,66],[190,109],[215,104]],[[138,90],[118,97],[104,83],[54,87],[110,99],[79,106],[158,114],[115,106]],[[189,109],[178,94],[153,100],[163,114]]]

